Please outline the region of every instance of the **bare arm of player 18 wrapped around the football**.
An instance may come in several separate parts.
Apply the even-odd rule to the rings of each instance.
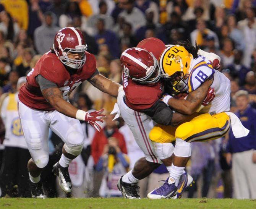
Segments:
[[[208,89],[212,84],[212,81],[205,81],[198,89],[190,92],[186,99],[171,98],[168,100],[168,105],[177,112],[191,115],[200,105],[207,95]]]

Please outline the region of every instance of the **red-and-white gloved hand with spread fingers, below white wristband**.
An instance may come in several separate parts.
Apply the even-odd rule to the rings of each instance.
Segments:
[[[94,111],[94,112],[87,112],[85,115],[85,121],[89,123],[96,131],[100,131],[102,126],[99,122],[104,122],[101,118],[105,118],[106,116],[101,114],[104,109]]]

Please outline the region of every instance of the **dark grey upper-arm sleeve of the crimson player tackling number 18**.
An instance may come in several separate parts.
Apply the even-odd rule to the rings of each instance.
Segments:
[[[171,125],[173,112],[172,109],[160,99],[157,100],[150,108],[142,110],[141,112],[145,113],[154,120],[154,122],[161,125]]]

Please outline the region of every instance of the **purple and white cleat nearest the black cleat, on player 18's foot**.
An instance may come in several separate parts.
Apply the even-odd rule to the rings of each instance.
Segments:
[[[147,197],[149,199],[165,199],[171,198],[176,194],[177,186],[175,186],[175,180],[172,177],[168,177],[167,180],[164,181],[164,184],[162,186],[148,193]]]

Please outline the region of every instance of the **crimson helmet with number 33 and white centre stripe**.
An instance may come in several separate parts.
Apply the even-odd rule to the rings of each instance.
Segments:
[[[85,44],[84,36],[81,31],[76,28],[67,27],[60,29],[54,37],[53,49],[60,61],[70,68],[79,69],[85,61]],[[68,52],[79,53],[80,60],[68,58]]]

